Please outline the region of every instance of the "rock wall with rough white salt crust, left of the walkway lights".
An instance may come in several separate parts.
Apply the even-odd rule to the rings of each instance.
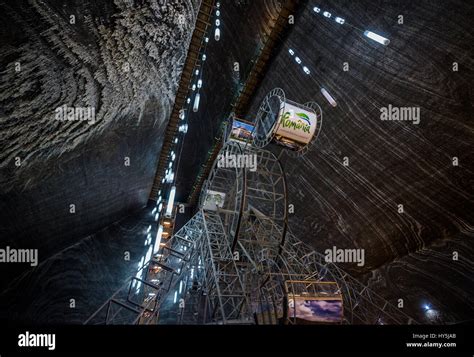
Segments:
[[[144,207],[198,7],[0,2],[0,242],[44,259]]]

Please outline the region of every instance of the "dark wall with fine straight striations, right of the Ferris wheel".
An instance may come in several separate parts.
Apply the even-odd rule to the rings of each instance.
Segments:
[[[472,6],[320,1],[323,11],[346,19],[341,26],[316,15],[314,5],[301,9],[250,111],[275,87],[322,106],[319,141],[301,159],[282,156],[295,207],[290,227],[320,252],[364,249],[364,266],[342,266],[395,303],[405,297],[420,320],[424,302],[445,313],[444,321],[474,318]],[[386,34],[390,45],[366,39],[366,29]],[[420,123],[382,121],[388,105],[419,107]]]

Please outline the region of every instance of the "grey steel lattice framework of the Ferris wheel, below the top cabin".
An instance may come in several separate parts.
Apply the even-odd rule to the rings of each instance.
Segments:
[[[255,170],[223,165],[226,155],[252,157]],[[416,323],[296,238],[287,206],[275,155],[228,140],[194,217],[86,323],[294,324],[298,297],[342,301],[338,323]]]

